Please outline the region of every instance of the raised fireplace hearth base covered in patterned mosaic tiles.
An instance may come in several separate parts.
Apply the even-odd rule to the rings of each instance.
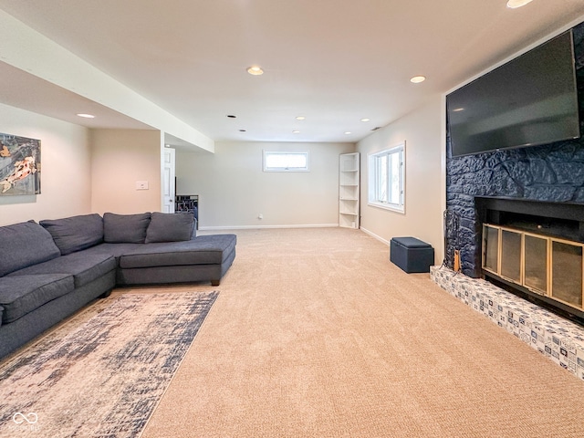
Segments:
[[[491,283],[431,266],[430,277],[467,306],[584,380],[584,328]]]

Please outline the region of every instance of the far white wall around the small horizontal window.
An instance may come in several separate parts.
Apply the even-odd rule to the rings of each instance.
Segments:
[[[310,172],[263,172],[262,152],[309,151]],[[202,228],[339,224],[339,154],[352,143],[216,142],[177,149],[177,194],[199,195]],[[264,219],[258,219],[263,214]]]

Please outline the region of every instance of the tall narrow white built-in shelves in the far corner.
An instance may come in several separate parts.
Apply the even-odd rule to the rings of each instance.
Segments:
[[[360,154],[339,155],[339,226],[359,228]]]

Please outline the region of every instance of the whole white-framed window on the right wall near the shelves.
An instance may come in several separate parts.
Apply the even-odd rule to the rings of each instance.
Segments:
[[[405,142],[369,155],[369,204],[403,212]]]

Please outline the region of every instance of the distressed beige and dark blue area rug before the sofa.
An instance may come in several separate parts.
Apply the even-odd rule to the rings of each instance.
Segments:
[[[137,436],[218,294],[110,297],[49,333],[0,367],[0,436]]]

